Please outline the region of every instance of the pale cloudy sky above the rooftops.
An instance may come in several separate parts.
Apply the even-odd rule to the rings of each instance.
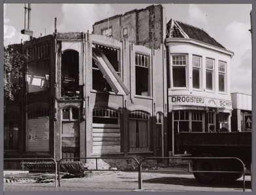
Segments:
[[[152,4],[31,4],[30,30],[38,38],[54,32],[54,18],[57,18],[57,32],[88,32],[101,19],[130,10],[146,8]],[[199,27],[229,51],[231,59],[231,93],[251,95],[251,21],[250,4],[162,4],[167,22],[170,19]],[[13,33],[24,29],[24,3],[4,4],[4,25]],[[15,14],[14,14],[15,13]],[[5,31],[6,32],[6,31]],[[42,35],[41,35],[42,34]]]

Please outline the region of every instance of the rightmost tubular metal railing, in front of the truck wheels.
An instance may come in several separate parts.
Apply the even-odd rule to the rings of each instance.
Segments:
[[[138,166],[138,189],[142,189],[142,172],[161,172],[161,170],[142,170],[142,163],[147,161],[147,160],[153,160],[153,159],[186,159],[188,161],[189,165],[189,170],[163,170],[162,172],[220,172],[220,173],[242,173],[243,174],[243,191],[245,191],[246,188],[246,166],[244,165],[244,162],[241,161],[240,159],[236,157],[146,157],[143,159],[139,166]],[[219,171],[194,171],[191,170],[191,159],[236,159],[238,162],[241,163],[243,166],[243,171],[237,172],[237,171],[224,171],[224,170],[219,170]]]

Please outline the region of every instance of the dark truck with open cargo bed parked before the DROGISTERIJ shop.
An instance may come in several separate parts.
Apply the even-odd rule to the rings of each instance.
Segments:
[[[251,131],[178,133],[175,140],[178,153],[187,151],[192,157],[236,157],[251,171]],[[210,184],[240,178],[242,173],[227,172],[241,172],[243,166],[237,159],[195,159],[193,171],[212,171],[193,172],[198,181]]]

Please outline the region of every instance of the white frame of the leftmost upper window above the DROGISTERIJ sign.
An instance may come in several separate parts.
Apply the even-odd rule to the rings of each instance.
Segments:
[[[174,64],[174,57],[185,57],[185,64]],[[188,59],[188,54],[186,53],[180,53],[180,54],[172,54],[171,55],[171,58],[170,58],[170,64],[172,66],[171,68],[171,73],[170,73],[170,77],[171,77],[171,86],[173,89],[178,89],[178,90],[184,90],[184,89],[187,89],[188,88],[188,67],[189,67],[189,59]],[[174,76],[173,76],[173,73],[174,73],[174,68],[177,68],[177,67],[185,67],[185,75],[184,75],[184,79],[185,79],[185,86],[174,86]]]

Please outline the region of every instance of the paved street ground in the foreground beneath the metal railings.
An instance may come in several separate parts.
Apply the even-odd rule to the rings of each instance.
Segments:
[[[90,177],[61,179],[61,187],[52,183],[4,183],[5,191],[177,191],[177,192],[242,192],[242,178],[238,181],[203,185],[193,174],[142,172],[142,190],[138,190],[138,172],[101,172]],[[251,192],[251,177],[246,176],[246,191]],[[57,186],[58,183],[57,183]]]

